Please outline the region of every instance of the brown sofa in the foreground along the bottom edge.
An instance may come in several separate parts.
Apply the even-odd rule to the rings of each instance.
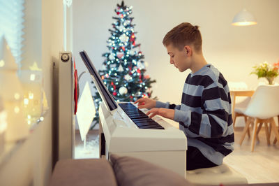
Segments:
[[[54,167],[50,186],[202,186],[163,167],[135,157],[110,155],[107,159],[63,159]],[[218,185],[227,185],[218,183]],[[242,184],[238,186],[279,185]]]

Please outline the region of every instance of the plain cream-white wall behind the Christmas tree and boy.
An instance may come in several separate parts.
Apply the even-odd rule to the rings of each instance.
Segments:
[[[107,52],[108,29],[112,29],[112,16],[116,15],[116,3],[121,1],[74,1],[73,54],[78,74],[85,69],[78,55],[80,50],[86,50],[100,69],[104,60],[101,55]],[[138,31],[136,42],[142,44],[141,50],[149,62],[146,73],[157,80],[153,96],[162,101],[180,103],[183,82],[190,72],[179,73],[170,65],[162,44],[167,31],[181,22],[200,26],[206,61],[229,81],[245,81],[248,87],[255,88],[259,80],[250,75],[252,66],[279,59],[278,0],[126,0],[125,3],[133,6],[133,22]],[[234,15],[243,8],[255,15],[257,25],[231,25]]]

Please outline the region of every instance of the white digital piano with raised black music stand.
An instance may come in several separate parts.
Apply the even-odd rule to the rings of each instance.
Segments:
[[[150,119],[133,103],[116,103],[103,84],[86,52],[82,60],[102,97],[100,115],[100,156],[110,154],[144,159],[186,176],[187,138],[161,117]]]

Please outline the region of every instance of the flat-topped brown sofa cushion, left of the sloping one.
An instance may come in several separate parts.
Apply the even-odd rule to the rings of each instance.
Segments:
[[[116,186],[110,162],[106,159],[61,159],[56,163],[50,186]]]

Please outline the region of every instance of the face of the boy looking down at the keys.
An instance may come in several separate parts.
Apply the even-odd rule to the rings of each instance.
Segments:
[[[186,48],[183,48],[183,50],[180,51],[172,44],[167,45],[166,48],[167,54],[170,57],[170,64],[174,64],[174,66],[181,72],[190,69],[191,62],[190,57],[188,56],[188,50]]]

